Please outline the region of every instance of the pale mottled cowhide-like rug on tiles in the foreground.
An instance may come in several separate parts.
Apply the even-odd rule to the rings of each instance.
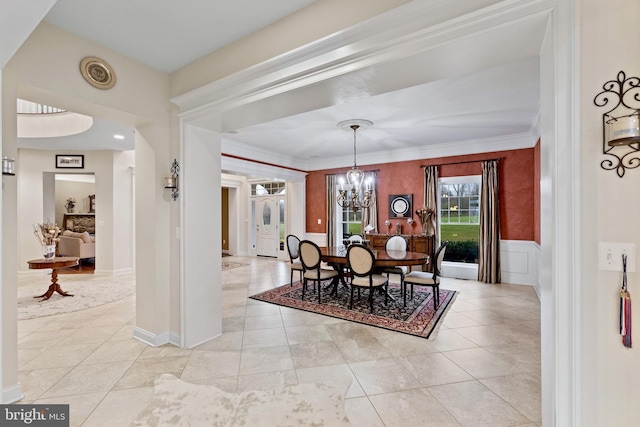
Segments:
[[[351,383],[297,384],[227,393],[160,375],[135,426],[349,426],[344,397]]]

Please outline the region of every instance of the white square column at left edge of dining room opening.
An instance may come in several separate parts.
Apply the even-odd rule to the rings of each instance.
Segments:
[[[181,335],[192,348],[222,334],[219,133],[184,125],[179,186]]]

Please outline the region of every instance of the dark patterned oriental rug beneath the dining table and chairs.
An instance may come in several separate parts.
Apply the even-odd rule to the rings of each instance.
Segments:
[[[330,282],[323,283],[323,289],[329,284]],[[407,295],[406,307],[403,306],[398,283],[389,284],[389,295],[395,301],[390,299],[385,307],[384,294],[374,292],[373,313],[369,311],[368,290],[362,290],[360,299],[357,299],[357,291],[354,293],[353,309],[349,310],[350,291],[343,286],[340,286],[337,298],[330,296],[328,289],[323,290],[322,304],[318,304],[318,294],[313,292],[311,283],[307,285],[305,299],[302,301],[302,282],[295,282],[293,286],[280,286],[250,298],[433,339],[456,292],[440,288],[440,306],[436,310],[433,309],[431,288],[414,287],[413,300],[409,300]]]

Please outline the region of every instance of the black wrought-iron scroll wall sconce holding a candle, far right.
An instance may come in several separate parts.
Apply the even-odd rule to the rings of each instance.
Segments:
[[[593,99],[598,107],[611,106],[602,115],[602,154],[611,156],[600,163],[605,170],[614,170],[620,178],[626,169],[640,166],[640,78],[620,71],[616,80],[609,80]]]

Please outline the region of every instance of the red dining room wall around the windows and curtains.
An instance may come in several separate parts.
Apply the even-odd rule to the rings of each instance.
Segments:
[[[538,147],[538,146],[536,146]],[[538,157],[538,160],[536,160]],[[390,194],[413,194],[413,211],[420,208],[423,200],[424,169],[421,165],[442,165],[441,177],[480,175],[482,160],[500,158],[500,227],[505,240],[540,240],[539,225],[539,148],[471,154],[466,156],[441,157],[360,166],[365,171],[378,171],[378,231],[386,232],[384,221],[389,218]],[[473,163],[446,163],[473,161]],[[538,175],[536,176],[536,164]],[[309,233],[326,233],[326,188],[325,175],[345,173],[349,168],[312,171],[307,175],[306,226]],[[536,202],[537,200],[537,202]],[[537,203],[537,205],[536,205]],[[322,224],[318,224],[318,219]],[[405,220],[403,233],[419,233],[420,225],[414,214],[411,230]],[[394,222],[397,220],[394,220]],[[536,236],[537,233],[537,236]]]

